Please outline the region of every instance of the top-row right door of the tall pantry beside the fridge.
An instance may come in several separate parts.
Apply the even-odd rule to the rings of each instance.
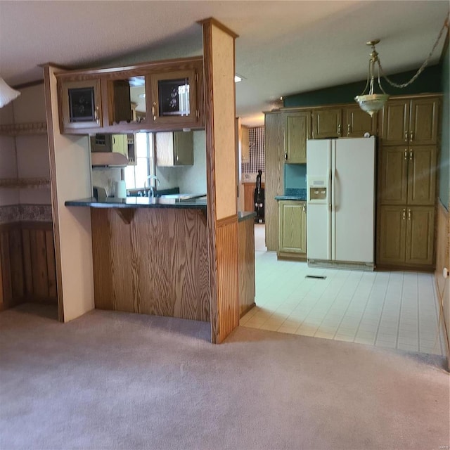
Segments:
[[[410,145],[437,143],[438,108],[437,98],[417,98],[411,101]]]

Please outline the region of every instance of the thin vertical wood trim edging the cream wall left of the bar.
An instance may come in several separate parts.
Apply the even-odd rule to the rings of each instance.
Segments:
[[[49,140],[49,163],[50,163],[50,191],[51,191],[51,216],[53,219],[53,240],[55,244],[55,263],[56,263],[56,295],[58,297],[58,321],[64,322],[64,303],[63,303],[63,274],[61,269],[61,246],[59,234],[59,212],[58,212],[58,193],[56,191],[56,157],[55,142],[53,136],[55,132],[59,133],[53,127],[53,112],[51,108],[51,77],[53,68],[44,65],[44,94],[47,120],[47,139]],[[57,119],[59,123],[59,117]]]

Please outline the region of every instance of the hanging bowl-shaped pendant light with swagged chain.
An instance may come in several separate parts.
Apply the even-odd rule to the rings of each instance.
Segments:
[[[412,82],[416,80],[416,78],[423,72],[425,67],[428,65],[430,58],[432,54],[434,53],[437,44],[439,43],[442,34],[446,28],[449,27],[449,16],[447,15],[444,21],[444,25],[442,25],[441,31],[439,32],[439,36],[436,39],[435,45],[433,46],[432,50],[430,51],[430,54],[428,55],[425,62],[420,66],[419,70],[416,72],[416,75],[414,75],[409,82],[403,83],[403,84],[397,84],[392,82],[385,73],[383,72],[383,66],[381,65],[380,58],[378,58],[378,52],[375,50],[375,45],[380,42],[380,39],[374,39],[373,41],[366,42],[366,45],[370,45],[372,47],[372,51],[370,53],[371,59],[368,62],[368,74],[367,74],[367,83],[366,87],[364,88],[364,91],[361,95],[356,96],[354,99],[356,103],[359,103],[359,107],[361,110],[366,111],[366,113],[370,114],[371,117],[373,116],[373,113],[376,113],[377,111],[383,109],[383,106],[387,102],[387,99],[389,98],[389,95],[385,93],[385,90],[383,87],[381,87],[380,83],[380,75],[385,78],[385,80],[394,87],[397,88],[404,88],[406,86],[409,86]],[[380,91],[383,94],[375,94],[375,64],[378,65],[377,68],[377,80],[378,80],[378,87],[380,88]],[[366,94],[366,91],[368,90],[368,93]]]

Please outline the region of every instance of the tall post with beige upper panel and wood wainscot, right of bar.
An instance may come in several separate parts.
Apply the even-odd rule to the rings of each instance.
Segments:
[[[237,34],[213,18],[200,23],[205,70],[211,339],[220,343],[239,324],[234,86]]]

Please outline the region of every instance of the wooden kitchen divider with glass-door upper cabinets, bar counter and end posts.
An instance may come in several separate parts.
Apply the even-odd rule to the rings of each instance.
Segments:
[[[113,309],[209,319],[213,343],[238,326],[237,35],[214,18],[198,25],[199,56],[91,70],[44,65],[60,321],[108,303]],[[122,87],[130,79],[145,84],[145,116],[129,111]],[[164,94],[172,84],[181,86],[184,99],[174,105],[175,114]],[[184,129],[205,130],[207,199],[201,207],[200,200],[179,207],[161,200],[138,205],[136,198],[108,207],[66,204],[93,193],[90,135]]]

